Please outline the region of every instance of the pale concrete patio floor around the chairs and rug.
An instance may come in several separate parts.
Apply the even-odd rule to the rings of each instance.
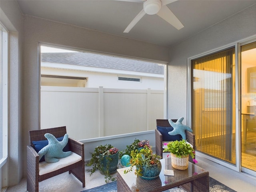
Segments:
[[[164,153],[166,157],[168,153]],[[226,186],[236,190],[237,192],[256,192],[256,179],[247,174],[235,172],[220,164],[207,160],[199,155],[196,156],[198,166],[208,170],[210,176]],[[87,169],[88,167],[86,167]],[[116,176],[114,174],[113,176]],[[90,172],[86,172],[86,187],[82,188],[82,183],[78,181],[72,174],[68,172],[44,180],[39,183],[39,192],[81,192],[86,189],[104,185],[105,179],[100,172],[95,172],[90,176]],[[26,192],[26,178],[16,185],[9,187],[6,192]]]

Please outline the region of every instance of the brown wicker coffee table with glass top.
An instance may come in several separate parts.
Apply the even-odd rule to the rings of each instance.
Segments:
[[[188,169],[172,168],[171,158],[160,160],[162,170],[159,178],[145,180],[137,178],[134,171],[124,174],[121,168],[117,170],[118,192],[162,192],[174,187],[184,188],[187,192],[209,192],[209,172],[189,162]],[[174,170],[174,176],[164,175],[164,169]]]

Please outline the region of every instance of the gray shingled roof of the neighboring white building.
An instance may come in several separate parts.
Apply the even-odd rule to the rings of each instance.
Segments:
[[[80,66],[100,67],[126,71],[164,74],[164,66],[133,59],[118,58],[93,53],[64,52],[42,53],[42,62],[72,64]]]

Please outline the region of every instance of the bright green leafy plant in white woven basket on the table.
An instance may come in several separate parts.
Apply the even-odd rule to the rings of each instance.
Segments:
[[[188,157],[194,158],[195,150],[186,142],[186,140],[171,141],[166,145],[163,152],[170,152],[172,158],[172,167],[185,170],[188,168]],[[194,160],[196,162],[196,160]]]

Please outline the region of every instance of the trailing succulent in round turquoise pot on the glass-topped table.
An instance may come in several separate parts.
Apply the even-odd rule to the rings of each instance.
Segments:
[[[142,144],[142,143],[141,143]],[[124,173],[128,173],[133,170],[135,166],[135,174],[140,178],[153,180],[158,178],[161,172],[160,156],[153,154],[151,146],[144,145],[143,148],[139,148],[131,151],[131,167],[128,170],[124,170]]]

